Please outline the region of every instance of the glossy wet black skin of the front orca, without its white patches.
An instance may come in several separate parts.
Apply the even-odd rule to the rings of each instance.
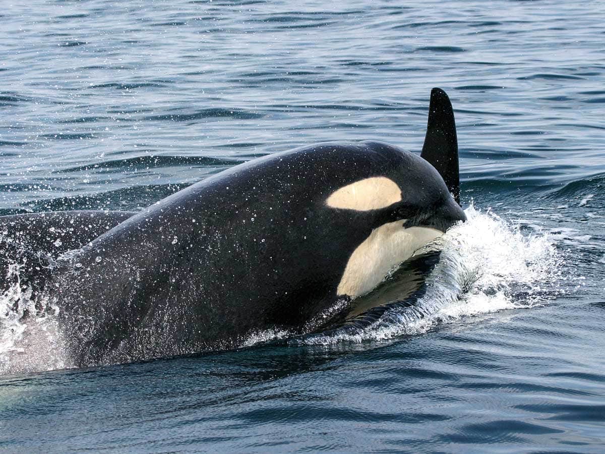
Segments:
[[[327,197],[385,176],[402,202],[334,209]],[[237,346],[250,332],[328,323],[348,258],[398,219],[465,219],[437,171],[379,142],[324,143],[253,160],[155,203],[62,260],[50,291],[79,366]],[[174,241],[176,239],[176,241]]]

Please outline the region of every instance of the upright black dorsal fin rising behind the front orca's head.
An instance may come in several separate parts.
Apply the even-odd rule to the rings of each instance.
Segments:
[[[458,139],[456,122],[450,98],[441,90],[431,90],[431,102],[428,106],[427,136],[422,146],[425,160],[437,169],[448,186],[458,205],[460,205],[460,170],[458,166]]]

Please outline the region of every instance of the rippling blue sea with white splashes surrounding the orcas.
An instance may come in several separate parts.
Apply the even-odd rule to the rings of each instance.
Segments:
[[[2,215],[140,210],[315,142],[420,151],[441,87],[469,221],[421,310],[350,337],[70,369],[5,294],[0,451],[605,452],[603,2],[1,5]]]

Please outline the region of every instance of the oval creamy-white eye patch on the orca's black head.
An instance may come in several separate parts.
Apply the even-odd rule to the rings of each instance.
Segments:
[[[325,203],[332,208],[369,211],[401,202],[399,185],[387,177],[371,177],[343,186]]]

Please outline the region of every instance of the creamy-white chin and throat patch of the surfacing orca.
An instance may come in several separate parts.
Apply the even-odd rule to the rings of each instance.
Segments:
[[[404,228],[404,220],[375,228],[348,259],[338,295],[355,298],[375,288],[394,266],[443,232],[428,227]]]

